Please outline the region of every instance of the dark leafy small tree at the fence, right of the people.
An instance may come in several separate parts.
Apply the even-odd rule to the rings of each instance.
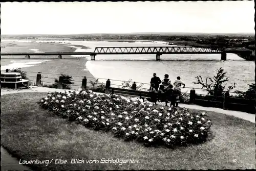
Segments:
[[[205,78],[205,82],[203,81],[201,76],[197,76],[197,82],[193,82],[194,84],[202,85],[202,88],[206,88],[208,91],[208,94],[214,95],[214,96],[221,96],[224,94],[225,86],[223,86],[223,83],[227,82],[229,79],[226,76],[226,72],[224,72],[224,69],[220,68],[217,70],[217,75],[213,78]],[[227,91],[232,90],[234,87],[236,87],[236,83],[233,84],[233,86],[228,86]]]

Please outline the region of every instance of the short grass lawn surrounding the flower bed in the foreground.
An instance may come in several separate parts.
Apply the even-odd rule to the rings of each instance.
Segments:
[[[2,145],[22,160],[134,159],[138,163],[42,164],[42,169],[246,169],[255,168],[255,125],[249,121],[206,112],[213,137],[200,145],[178,149],[146,148],[125,142],[110,133],[89,130],[71,123],[36,103],[47,93],[3,95],[1,114]],[[195,110],[189,110],[193,112]],[[198,111],[202,112],[202,111]],[[236,159],[236,162],[233,160]]]

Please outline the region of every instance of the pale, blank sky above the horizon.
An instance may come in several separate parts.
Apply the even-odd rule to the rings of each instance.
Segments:
[[[254,1],[1,3],[1,32],[254,33]]]

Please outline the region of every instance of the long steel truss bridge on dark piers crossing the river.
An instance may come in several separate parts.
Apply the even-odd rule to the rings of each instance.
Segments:
[[[193,46],[142,46],[142,47],[95,47],[94,52],[45,52],[45,53],[1,53],[1,56],[58,56],[63,55],[90,55],[95,60],[96,55],[140,55],[156,54],[156,60],[160,60],[163,54],[221,54],[221,60],[227,59],[227,53],[251,55],[251,51],[225,51],[219,47],[193,47]]]

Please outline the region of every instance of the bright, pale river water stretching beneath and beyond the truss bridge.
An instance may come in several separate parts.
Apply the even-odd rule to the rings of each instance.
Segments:
[[[62,42],[64,41],[55,41]],[[69,45],[84,45],[90,48],[78,48],[77,52],[93,52],[95,47],[101,46],[170,46],[165,42],[107,42],[107,41],[65,41]],[[96,78],[111,80],[129,80],[148,83],[156,72],[160,79],[168,74],[173,82],[177,76],[186,84],[186,87],[201,88],[195,85],[197,76],[213,77],[222,67],[229,78],[226,86],[237,83],[237,88],[247,90],[248,85],[254,83],[254,62],[246,61],[236,54],[227,54],[227,60],[222,61],[220,54],[185,54],[185,55],[162,55],[161,61],[156,61],[156,55],[97,55],[95,61],[89,61],[84,68],[89,69]],[[99,79],[100,80],[100,79]],[[100,80],[105,82],[105,80]],[[112,81],[112,84],[121,85],[121,82]],[[144,85],[149,88],[149,85]],[[183,92],[189,92],[185,88]],[[198,90],[197,90],[198,92]],[[201,92],[201,91],[200,91]]]

